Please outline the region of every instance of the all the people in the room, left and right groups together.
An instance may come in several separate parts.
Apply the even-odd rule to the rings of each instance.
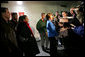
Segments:
[[[41,13],[41,19],[37,22],[36,29],[41,37],[42,50],[48,51],[51,56],[58,56],[57,47],[58,41],[60,41],[61,46],[65,47],[63,56],[77,56],[82,53],[84,45],[83,12],[82,7],[73,7],[70,12],[62,11],[62,14],[59,14],[58,11],[55,14]],[[17,21],[17,13],[11,15],[10,20],[9,9],[1,7],[1,55],[35,56],[39,54],[40,51],[29,26],[27,15],[19,16],[19,21]]]

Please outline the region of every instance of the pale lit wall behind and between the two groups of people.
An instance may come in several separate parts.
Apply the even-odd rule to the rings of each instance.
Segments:
[[[38,31],[36,30],[36,24],[41,18],[41,13],[48,13],[55,11],[69,11],[69,8],[60,7],[56,5],[56,2],[49,1],[24,1],[23,5],[17,5],[16,1],[9,1],[9,3],[2,3],[2,7],[7,7],[10,12],[25,12],[29,18],[30,26],[33,27],[34,35],[36,38],[40,38]]]

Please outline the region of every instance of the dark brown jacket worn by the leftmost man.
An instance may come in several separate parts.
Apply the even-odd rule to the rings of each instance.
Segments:
[[[18,56],[18,45],[14,30],[1,18],[0,55]]]

